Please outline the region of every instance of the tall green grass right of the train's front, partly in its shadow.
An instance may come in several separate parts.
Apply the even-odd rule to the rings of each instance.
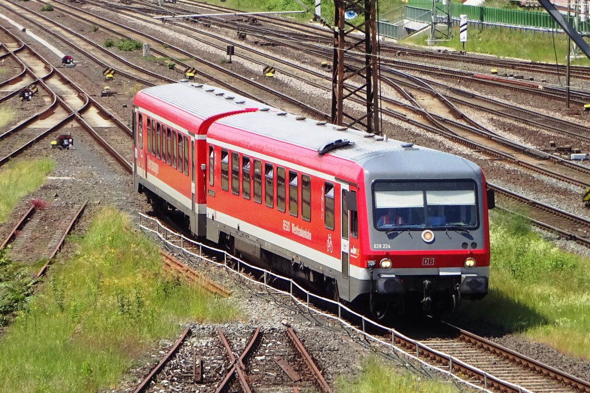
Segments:
[[[483,319],[590,359],[590,261],[530,232],[526,219],[494,212],[490,293],[458,316]]]

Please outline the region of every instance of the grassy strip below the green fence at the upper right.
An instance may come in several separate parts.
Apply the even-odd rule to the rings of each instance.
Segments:
[[[405,38],[401,42],[426,45],[429,35],[430,32],[423,32]],[[458,28],[453,28],[453,39],[451,41],[441,41],[435,45],[459,51],[463,49],[462,44],[462,42],[459,42]],[[568,36],[565,34],[525,32],[504,28],[479,29],[469,25],[465,50],[497,57],[513,57],[537,62],[565,64],[568,52]],[[571,64],[590,65],[590,61],[585,56],[583,57],[572,59]]]

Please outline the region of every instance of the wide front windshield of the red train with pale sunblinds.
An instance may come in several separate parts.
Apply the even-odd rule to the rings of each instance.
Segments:
[[[478,226],[473,180],[373,183],[376,229],[475,229]]]

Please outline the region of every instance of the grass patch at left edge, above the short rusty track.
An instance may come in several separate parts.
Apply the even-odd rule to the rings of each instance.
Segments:
[[[6,220],[22,197],[45,183],[45,176],[54,167],[53,160],[39,158],[12,161],[0,170],[0,223]]]

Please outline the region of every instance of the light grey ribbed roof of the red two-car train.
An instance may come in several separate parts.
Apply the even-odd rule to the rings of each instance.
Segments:
[[[429,160],[435,160],[442,171],[446,166],[454,166],[457,170],[458,161],[463,161],[464,170],[478,169],[476,164],[453,154],[304,118],[210,85],[178,82],[149,87],[139,94],[169,103],[202,120],[245,108],[258,108],[258,111],[219,118],[217,123],[309,148],[318,151],[318,154],[324,149],[325,154],[359,164],[368,164],[366,161],[373,161],[376,157],[382,158],[386,153],[401,153],[404,157],[400,157],[399,154],[387,155],[392,156],[392,162],[395,161],[398,166],[401,163],[399,170],[404,170],[402,167],[415,168],[419,163],[424,165],[423,160],[427,153]],[[413,153],[408,154],[410,151]]]

